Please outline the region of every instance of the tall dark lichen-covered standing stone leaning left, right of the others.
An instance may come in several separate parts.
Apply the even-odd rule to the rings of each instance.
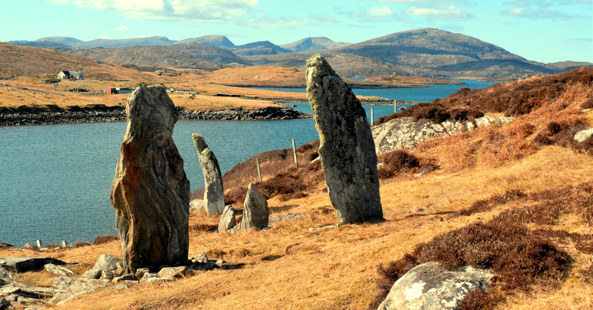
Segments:
[[[382,219],[377,153],[365,110],[321,55],[307,60],[305,76],[338,224]]]

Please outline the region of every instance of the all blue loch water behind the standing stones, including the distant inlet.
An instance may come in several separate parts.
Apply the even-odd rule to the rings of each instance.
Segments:
[[[454,93],[460,88],[447,87],[441,91]],[[402,89],[407,90],[405,96],[399,93]],[[286,88],[281,90],[286,91]],[[422,94],[422,91],[416,94],[419,90],[431,94]],[[412,100],[412,97],[435,96],[436,90],[353,91],[365,96]],[[440,93],[436,97],[445,96]],[[413,101],[432,101],[436,97]],[[311,112],[308,103],[296,105],[295,108],[302,112]],[[394,111],[393,106],[373,107],[375,119]],[[371,106],[364,108],[370,118]],[[92,242],[96,236],[117,235],[109,193],[125,131],[125,122],[0,127],[0,242],[14,246],[34,243],[36,239],[42,239],[44,244],[62,240]],[[254,154],[291,148],[292,138],[297,145],[318,138],[313,119],[180,119],[175,125],[173,138],[184,159],[192,189],[204,184],[192,142],[194,132],[205,137],[218,158],[222,173]]]

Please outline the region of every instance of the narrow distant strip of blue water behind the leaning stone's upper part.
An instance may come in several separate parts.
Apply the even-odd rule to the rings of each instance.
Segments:
[[[355,79],[360,80],[360,79]],[[443,99],[449,94],[455,93],[459,88],[468,87],[484,88],[492,84],[493,82],[479,82],[475,80],[456,80],[462,81],[466,84],[462,85],[426,85],[430,88],[394,88],[394,89],[367,89],[367,88],[353,88],[353,93],[362,96],[379,96],[391,100],[409,100],[415,102],[432,102],[436,98]],[[275,91],[292,91],[295,93],[305,93],[305,88],[262,88],[258,87],[255,89],[262,90],[275,90]]]

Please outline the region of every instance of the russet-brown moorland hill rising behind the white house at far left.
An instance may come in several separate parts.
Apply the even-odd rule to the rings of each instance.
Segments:
[[[58,74],[62,70],[84,72],[87,79],[154,80],[154,75],[123,68],[92,58],[0,42],[0,77]]]

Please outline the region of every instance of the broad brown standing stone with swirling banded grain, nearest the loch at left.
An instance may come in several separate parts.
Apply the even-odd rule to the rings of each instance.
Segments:
[[[185,262],[190,184],[172,137],[177,109],[164,86],[141,86],[127,99],[126,118],[109,198],[125,271]]]

